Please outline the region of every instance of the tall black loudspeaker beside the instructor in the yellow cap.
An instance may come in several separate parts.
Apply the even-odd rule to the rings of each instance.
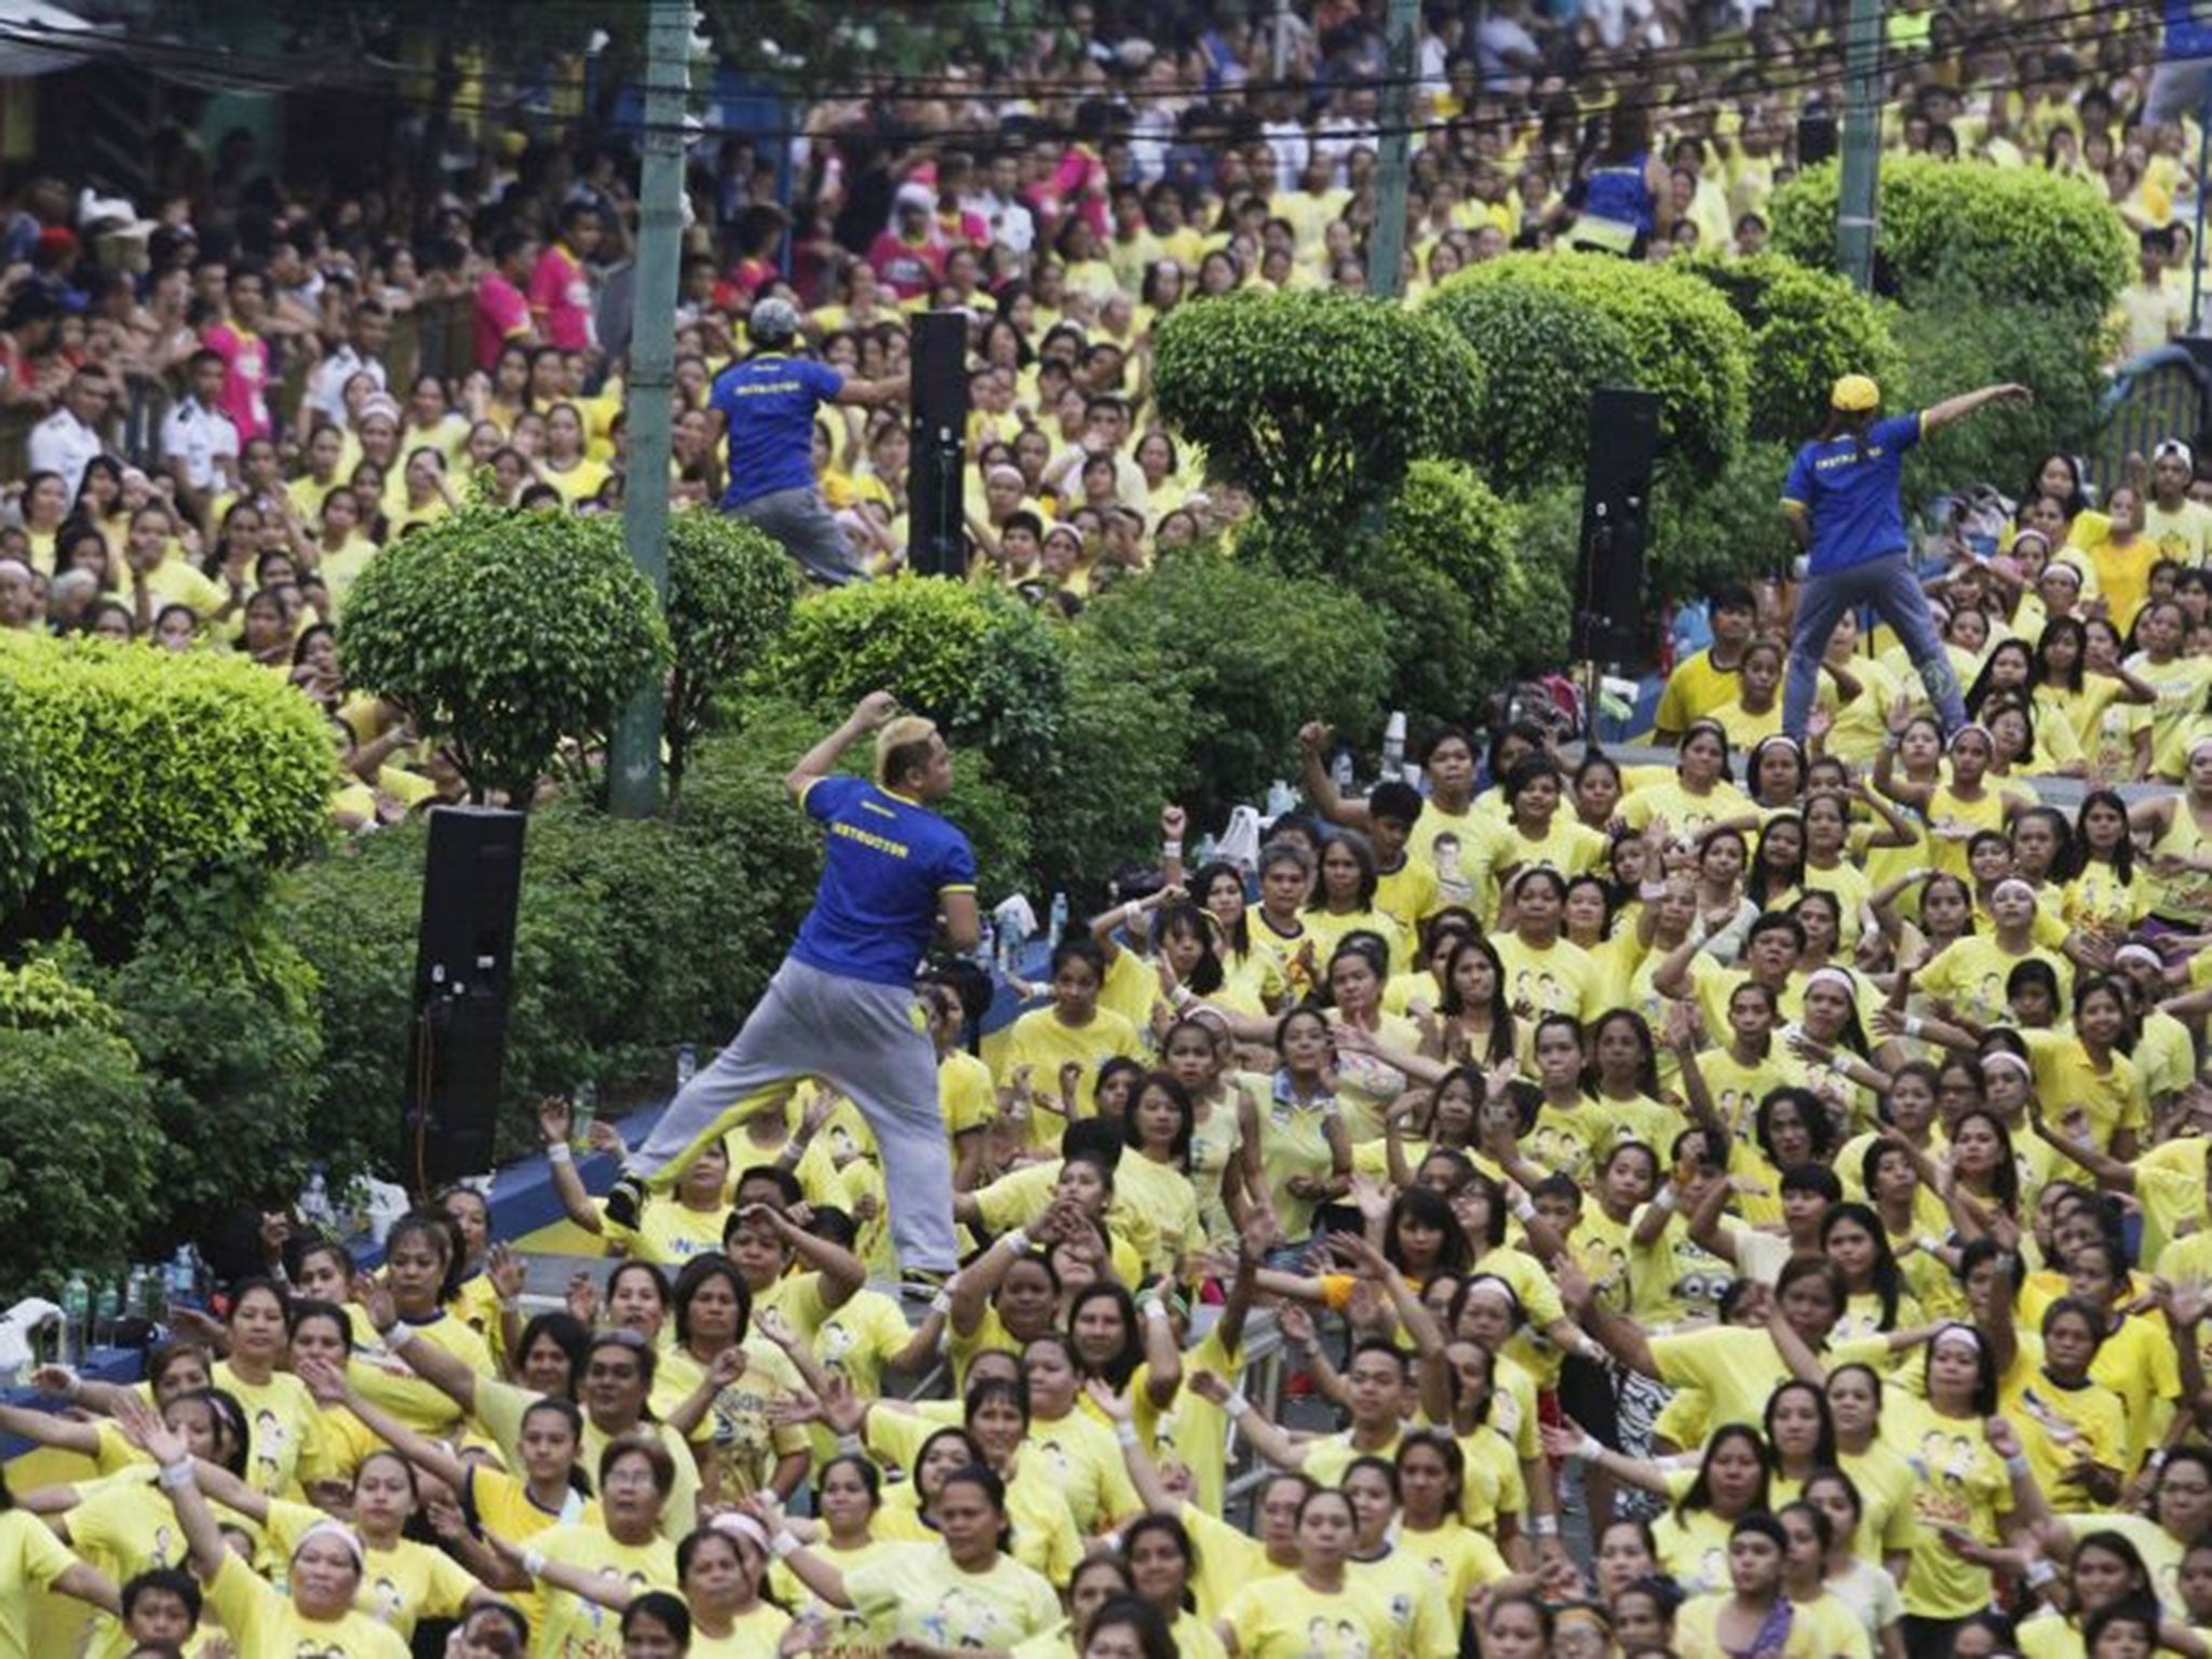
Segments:
[[[1646,650],[1644,535],[1657,451],[1657,392],[1608,385],[1590,394],[1590,467],[1575,562],[1573,646],[1582,661],[1632,664]]]

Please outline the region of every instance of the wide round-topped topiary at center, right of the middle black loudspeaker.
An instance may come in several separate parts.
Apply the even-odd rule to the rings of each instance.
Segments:
[[[1343,513],[1420,456],[1482,447],[1482,358],[1440,316],[1338,292],[1177,305],[1152,385],[1168,425],[1261,509]]]

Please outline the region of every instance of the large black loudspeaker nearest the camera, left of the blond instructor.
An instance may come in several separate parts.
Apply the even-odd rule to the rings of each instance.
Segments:
[[[493,1164],[520,898],[522,814],[434,807],[400,1124],[400,1170],[418,1197]]]

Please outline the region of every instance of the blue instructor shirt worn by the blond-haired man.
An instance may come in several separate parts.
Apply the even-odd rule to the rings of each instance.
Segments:
[[[914,984],[945,894],[975,891],[967,836],[902,794],[860,779],[816,779],[801,796],[830,832],[814,909],[792,956],[872,984]]]

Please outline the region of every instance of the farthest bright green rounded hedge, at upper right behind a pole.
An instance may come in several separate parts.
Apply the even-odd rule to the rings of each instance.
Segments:
[[[1836,268],[1838,177],[1838,164],[1823,161],[1776,188],[1781,252]],[[2101,181],[1920,155],[1882,157],[1876,250],[1907,305],[1949,310],[1947,296],[1971,294],[2088,319],[2112,310],[2135,263]]]

